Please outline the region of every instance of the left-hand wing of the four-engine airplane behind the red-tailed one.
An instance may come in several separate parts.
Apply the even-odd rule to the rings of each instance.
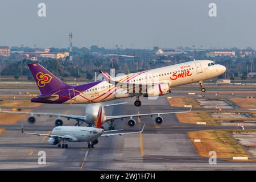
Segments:
[[[55,113],[30,113],[23,111],[9,111],[0,109],[0,113],[13,113],[13,114],[30,114],[30,115],[47,115],[49,117],[62,117],[68,119],[79,119],[80,121],[86,121],[86,115],[67,115],[67,114],[55,114]]]

